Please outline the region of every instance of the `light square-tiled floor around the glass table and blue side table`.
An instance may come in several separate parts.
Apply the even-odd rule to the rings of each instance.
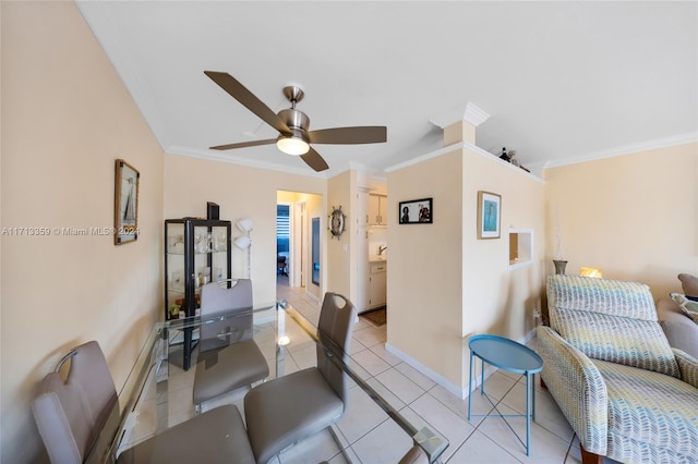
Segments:
[[[303,289],[279,284],[277,298],[287,300],[311,320],[318,314],[320,303],[306,296]],[[525,447],[517,441],[501,418],[473,418],[468,422],[468,399],[461,400],[454,395],[387,352],[385,350],[386,326],[378,328],[364,318],[359,319],[353,332],[351,357],[369,373],[368,382],[418,429],[426,425],[448,439],[449,447],[442,455],[442,462],[453,464],[581,462],[577,437],[553,398],[540,387],[538,378],[535,382],[537,420],[531,423],[531,455],[527,456]],[[529,346],[535,350],[535,339],[529,342]],[[526,379],[521,376],[497,370],[485,381],[485,391],[496,402],[501,413],[525,413]],[[357,396],[360,395],[357,394]],[[400,449],[407,450],[410,442],[409,439],[404,440],[402,436],[406,434],[389,418],[382,415],[368,396],[358,398],[358,400],[360,404],[352,404],[354,407],[347,412],[337,427],[341,438],[351,443],[351,449],[358,457],[356,462],[397,462],[399,457],[396,459],[395,453],[390,453],[386,448],[390,448],[388,443],[397,440],[402,447]],[[477,393],[472,398],[472,407],[473,414],[485,414],[492,408],[490,403]],[[520,437],[526,437],[525,418],[508,420]],[[280,455],[282,463],[287,462],[285,454]],[[399,453],[397,455],[399,456]],[[352,460],[353,457],[354,455]],[[604,463],[613,463],[613,461],[606,459]]]

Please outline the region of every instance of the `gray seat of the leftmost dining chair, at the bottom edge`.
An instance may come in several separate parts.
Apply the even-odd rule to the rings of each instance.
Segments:
[[[123,451],[117,459],[117,464],[203,462],[255,463],[236,406],[210,410]]]

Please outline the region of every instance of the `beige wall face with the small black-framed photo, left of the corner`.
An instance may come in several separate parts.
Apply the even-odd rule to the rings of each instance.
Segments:
[[[388,343],[460,386],[460,149],[388,173]],[[399,202],[433,198],[433,223],[398,224]]]

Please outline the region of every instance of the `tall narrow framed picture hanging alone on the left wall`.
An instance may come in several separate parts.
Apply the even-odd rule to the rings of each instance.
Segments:
[[[139,171],[117,160],[113,202],[113,243],[122,245],[139,239]]]

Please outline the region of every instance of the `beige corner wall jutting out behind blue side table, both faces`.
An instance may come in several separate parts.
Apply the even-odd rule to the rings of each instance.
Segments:
[[[501,239],[478,240],[478,191],[502,196]],[[389,206],[432,197],[433,224],[389,217],[388,344],[464,392],[467,341],[476,333],[522,340],[540,308],[544,185],[472,145],[388,174]],[[533,232],[528,266],[509,268],[509,228]]]

